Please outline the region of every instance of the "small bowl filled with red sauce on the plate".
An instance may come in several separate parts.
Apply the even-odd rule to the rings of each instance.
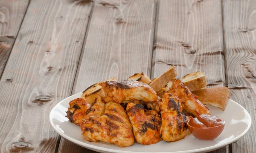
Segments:
[[[201,114],[188,122],[190,133],[201,140],[217,138],[222,133],[224,125],[225,121],[223,119],[208,114]]]

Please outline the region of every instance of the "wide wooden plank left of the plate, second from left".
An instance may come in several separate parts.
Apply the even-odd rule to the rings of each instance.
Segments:
[[[0,79],[0,152],[54,152],[51,108],[70,96],[90,1],[32,0]]]

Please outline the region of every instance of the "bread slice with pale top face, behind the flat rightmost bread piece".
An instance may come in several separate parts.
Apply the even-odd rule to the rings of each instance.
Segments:
[[[185,83],[190,91],[196,91],[207,86],[206,77],[200,71],[185,75],[181,81]]]

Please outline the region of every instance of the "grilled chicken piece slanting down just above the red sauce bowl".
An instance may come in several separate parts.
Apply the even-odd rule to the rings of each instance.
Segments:
[[[192,94],[180,79],[172,79],[164,91],[170,94],[177,94],[182,101],[183,109],[195,117],[201,114],[210,114],[208,108],[198,100],[197,96]]]

